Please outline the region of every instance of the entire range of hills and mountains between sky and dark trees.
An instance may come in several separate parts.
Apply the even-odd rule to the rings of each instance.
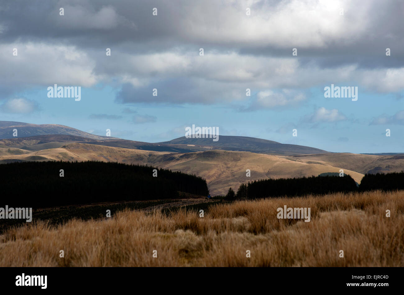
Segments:
[[[15,128],[18,137],[12,136]],[[360,183],[366,173],[404,169],[404,154],[329,153],[244,136],[219,136],[217,142],[180,137],[149,143],[97,136],[62,125],[0,121],[0,138],[0,163],[98,160],[155,165],[202,176],[212,195],[223,195],[230,186],[237,189],[242,182],[266,178],[317,176],[343,169]],[[247,169],[250,177],[246,177]]]

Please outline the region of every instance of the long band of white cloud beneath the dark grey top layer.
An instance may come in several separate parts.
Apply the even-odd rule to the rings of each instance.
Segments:
[[[10,48],[18,49],[12,56]],[[358,69],[358,65],[321,68],[316,63],[301,64],[292,57],[266,57],[237,52],[209,52],[199,56],[195,52],[162,52],[127,54],[115,50],[119,58],[85,52],[74,46],[44,43],[0,45],[0,64],[9,71],[1,71],[3,87],[20,91],[33,86],[53,84],[91,87],[98,83],[119,86],[130,83],[134,88],[155,88],[156,84],[173,79],[193,81],[193,92],[199,93],[199,103],[246,100],[245,89],[260,91],[257,103],[264,107],[290,105],[304,97],[287,98],[284,94],[267,93],[262,89],[313,88],[322,91],[324,85],[352,84],[362,90],[398,92],[404,90],[404,67]],[[307,73],[310,73],[309,75]],[[116,84],[118,82],[118,84]],[[181,86],[182,92],[184,86]],[[178,90],[177,90],[178,91]],[[265,95],[266,94],[266,95]],[[213,97],[213,96],[216,97]],[[0,97],[1,98],[1,97]],[[219,100],[220,98],[220,100]],[[143,98],[134,98],[135,101]],[[170,97],[156,103],[192,102],[189,96]]]

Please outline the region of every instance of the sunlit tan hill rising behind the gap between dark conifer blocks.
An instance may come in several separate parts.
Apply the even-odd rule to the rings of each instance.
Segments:
[[[243,182],[267,178],[317,176],[325,172],[339,172],[341,168],[358,183],[364,176],[341,166],[303,163],[275,155],[249,152],[206,151],[170,156],[171,159],[168,159],[163,167],[203,175],[208,182],[209,190],[218,195],[225,195],[229,187],[238,188]],[[246,177],[247,169],[251,171],[250,177]]]

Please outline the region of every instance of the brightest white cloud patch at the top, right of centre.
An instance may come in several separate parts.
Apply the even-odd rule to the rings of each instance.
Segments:
[[[370,24],[371,1],[292,0],[231,1],[226,9],[196,2],[183,14],[181,32],[200,42],[227,42],[260,46],[324,47],[332,41],[353,42]],[[246,7],[251,15],[246,16]],[[344,8],[344,16],[339,15]],[[349,12],[354,11],[352,15]],[[206,21],[206,15],[215,15]],[[292,49],[292,48],[290,48]]]

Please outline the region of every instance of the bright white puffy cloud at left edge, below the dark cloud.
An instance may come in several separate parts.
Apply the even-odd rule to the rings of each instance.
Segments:
[[[13,56],[10,48],[17,48]],[[0,45],[0,64],[7,71],[0,71],[0,79],[8,87],[22,90],[30,86],[60,84],[66,86],[93,86],[97,77],[93,74],[95,61],[74,46],[45,43],[19,43]]]

